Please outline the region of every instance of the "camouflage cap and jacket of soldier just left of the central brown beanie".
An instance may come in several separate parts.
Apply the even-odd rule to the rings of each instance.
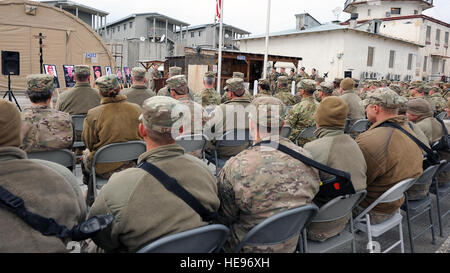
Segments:
[[[316,82],[313,80],[302,80],[298,84],[298,89],[311,92],[316,89]],[[289,139],[295,142],[297,136],[306,128],[315,126],[314,113],[319,107],[319,103],[312,96],[303,98],[299,104],[296,104],[286,117],[287,125],[292,127],[292,133]],[[299,139],[298,144],[303,146],[313,139]]]

